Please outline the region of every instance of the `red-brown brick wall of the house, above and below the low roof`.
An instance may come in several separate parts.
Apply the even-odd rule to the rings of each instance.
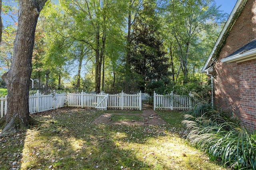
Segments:
[[[256,1],[248,0],[214,64],[214,104],[232,111],[247,128],[256,129],[256,61],[222,63],[219,60],[256,39]],[[253,78],[254,77],[254,78]]]

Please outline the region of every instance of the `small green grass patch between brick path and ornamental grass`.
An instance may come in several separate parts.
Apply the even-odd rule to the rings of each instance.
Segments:
[[[170,126],[182,128],[183,113],[181,111],[156,111],[156,113]]]

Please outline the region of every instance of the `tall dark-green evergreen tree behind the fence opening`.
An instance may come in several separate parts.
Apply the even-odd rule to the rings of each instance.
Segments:
[[[140,75],[140,79],[137,80],[140,90],[145,91],[149,81],[168,79],[169,76],[168,58],[160,35],[154,0],[144,4],[136,22],[138,24],[132,42],[131,65],[132,71]]]

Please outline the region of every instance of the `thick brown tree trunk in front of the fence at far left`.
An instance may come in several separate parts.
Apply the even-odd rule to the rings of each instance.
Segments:
[[[12,65],[2,78],[7,86],[7,114],[2,118],[2,134],[28,127],[34,120],[29,115],[28,97],[32,71],[32,51],[39,12],[46,0],[19,0],[18,30],[14,40]]]

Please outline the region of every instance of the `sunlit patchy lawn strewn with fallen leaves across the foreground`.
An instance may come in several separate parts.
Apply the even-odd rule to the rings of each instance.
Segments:
[[[183,128],[93,124],[101,114],[77,108],[34,114],[41,125],[0,139],[0,169],[224,169],[186,144]]]

